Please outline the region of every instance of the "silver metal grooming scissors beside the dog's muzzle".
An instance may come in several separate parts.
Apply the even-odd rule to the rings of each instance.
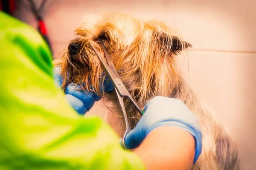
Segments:
[[[89,41],[90,43],[90,41]],[[128,92],[127,88],[125,88],[125,85],[122,83],[119,75],[117,74],[116,68],[113,64],[113,62],[111,61],[110,55],[104,45],[104,42],[101,41],[101,43],[99,43],[104,51],[105,54],[105,58],[108,62],[108,64],[105,63],[105,61],[102,59],[102,57],[100,57],[100,55],[98,54],[98,52],[96,51],[96,49],[93,47],[93,45],[90,43],[92,50],[95,52],[96,56],[99,58],[100,62],[102,63],[103,67],[105,68],[105,70],[107,71],[107,73],[109,74],[109,77],[111,78],[111,80],[113,81],[113,85],[115,87],[116,90],[116,94],[118,96],[119,99],[119,103],[121,105],[122,108],[122,113],[124,116],[124,120],[125,120],[125,133],[122,136],[122,147],[124,149],[126,149],[125,147],[125,136],[131,131],[130,129],[130,125],[128,122],[128,118],[127,118],[127,114],[125,111],[125,105],[124,105],[124,98],[128,98],[131,103],[134,105],[134,107],[137,109],[137,111],[141,114],[141,116],[143,115],[144,111],[142,111],[139,107],[139,105],[137,104],[137,102],[132,98],[131,94]]]

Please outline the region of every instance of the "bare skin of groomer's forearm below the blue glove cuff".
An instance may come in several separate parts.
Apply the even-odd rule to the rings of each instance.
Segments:
[[[191,134],[174,126],[152,130],[134,150],[147,170],[191,170],[195,140]]]

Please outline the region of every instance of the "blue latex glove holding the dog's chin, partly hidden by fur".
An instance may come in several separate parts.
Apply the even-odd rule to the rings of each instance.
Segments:
[[[62,78],[61,78],[61,67],[54,68],[54,81],[58,87],[62,85]],[[107,84],[107,80],[103,84],[103,88],[105,92],[110,92],[114,90],[113,82],[110,81]],[[85,93],[84,91],[79,90],[81,89],[80,85],[75,86],[74,83],[70,83],[65,89],[65,97],[67,101],[70,103],[72,108],[77,111],[77,113],[84,115],[90,108],[93,107],[94,103],[101,99],[100,96],[96,95],[95,93],[88,92]],[[102,89],[101,89],[102,91]]]

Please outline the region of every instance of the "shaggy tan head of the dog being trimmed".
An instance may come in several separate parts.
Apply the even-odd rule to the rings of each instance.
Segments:
[[[74,82],[100,94],[104,69],[90,43],[104,55],[102,41],[122,82],[141,108],[154,96],[171,96],[180,76],[175,55],[190,47],[175,28],[128,14],[86,16],[60,59],[66,84]],[[90,41],[90,43],[89,43]],[[90,88],[91,87],[91,88]],[[138,113],[126,103],[128,116]]]

